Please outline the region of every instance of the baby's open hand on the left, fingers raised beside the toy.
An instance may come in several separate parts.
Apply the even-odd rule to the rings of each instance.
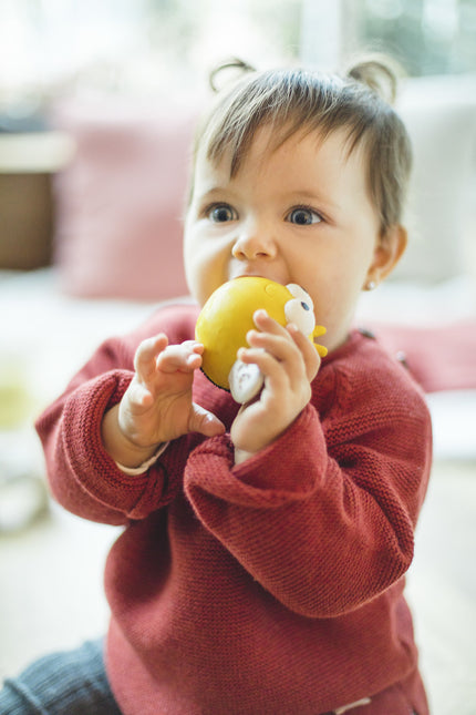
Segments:
[[[141,343],[131,385],[103,420],[104,446],[115,461],[136,467],[162,442],[187,432],[213,437],[225,431],[215,415],[192,400],[203,350],[195,340],[168,345],[163,334]]]

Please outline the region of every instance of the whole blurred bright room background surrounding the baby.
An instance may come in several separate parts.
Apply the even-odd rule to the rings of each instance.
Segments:
[[[436,715],[476,713],[476,0],[0,0],[0,676],[104,632],[117,530],[49,498],[39,412],[106,336],[187,300],[182,215],[208,73],[384,51],[415,166],[395,275],[358,320],[427,392],[408,599]]]

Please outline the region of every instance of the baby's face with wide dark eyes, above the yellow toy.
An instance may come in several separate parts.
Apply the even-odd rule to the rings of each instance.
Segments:
[[[199,305],[242,275],[297,283],[312,297],[329,349],[348,336],[368,274],[380,261],[380,224],[363,152],[345,134],[296,134],[270,149],[260,129],[238,172],[198,153],[185,226],[185,268]]]

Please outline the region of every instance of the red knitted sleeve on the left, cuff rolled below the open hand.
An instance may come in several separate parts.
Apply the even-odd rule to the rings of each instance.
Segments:
[[[103,447],[101,422],[127,389],[139,341],[159,330],[174,340],[185,339],[195,323],[195,316],[188,320],[187,310],[178,309],[178,316],[164,310],[130,336],[103,343],[38,419],[51,491],[69,511],[123,524],[148,515],[173,498],[177,484],[170,483],[169,469],[162,460],[138,476],[117,468]]]

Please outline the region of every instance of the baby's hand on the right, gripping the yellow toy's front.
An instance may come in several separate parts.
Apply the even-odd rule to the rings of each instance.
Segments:
[[[294,421],[311,398],[311,381],[321,364],[312,343],[296,326],[280,326],[266,310],[257,310],[253,321],[258,329],[248,333],[250,347],[241,348],[238,357],[259,367],[265,386],[256,400],[240,408],[231,426],[237,464]]]

